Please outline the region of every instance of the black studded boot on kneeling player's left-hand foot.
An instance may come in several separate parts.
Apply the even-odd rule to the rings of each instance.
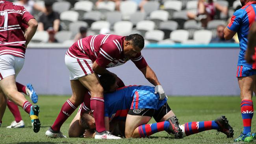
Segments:
[[[182,138],[182,129],[180,129],[179,122],[176,116],[172,116],[171,118],[168,118],[166,121],[170,123],[169,130],[167,131],[167,133],[172,133],[174,135],[174,138]]]

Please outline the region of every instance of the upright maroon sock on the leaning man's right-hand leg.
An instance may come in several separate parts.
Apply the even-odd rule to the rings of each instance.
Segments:
[[[98,133],[106,131],[104,123],[104,98],[91,98],[90,104],[95,118],[96,131]]]

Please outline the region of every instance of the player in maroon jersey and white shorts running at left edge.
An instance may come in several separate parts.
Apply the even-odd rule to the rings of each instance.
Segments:
[[[32,105],[18,92],[15,78],[24,64],[26,47],[36,30],[37,21],[23,6],[0,1],[0,123],[9,98],[30,114],[35,133],[41,127],[39,106]]]

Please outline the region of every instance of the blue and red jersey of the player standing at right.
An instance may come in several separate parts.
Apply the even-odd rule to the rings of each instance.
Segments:
[[[251,64],[247,63],[245,60],[245,52],[247,49],[247,36],[249,33],[250,26],[255,20],[256,15],[256,2],[248,2],[245,6],[241,9],[238,9],[234,12],[230,23],[228,24],[227,28],[229,30],[237,32],[239,45],[240,45],[240,52],[238,56],[238,63],[237,66],[246,66],[249,68],[256,69],[256,66],[252,66]]]

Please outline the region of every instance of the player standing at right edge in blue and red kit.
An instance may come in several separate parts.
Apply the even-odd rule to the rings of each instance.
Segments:
[[[243,133],[235,141],[252,142],[251,122],[254,113],[252,94],[256,89],[256,67],[245,61],[245,51],[247,49],[249,29],[256,18],[256,1],[240,0],[240,2],[243,7],[233,14],[230,23],[224,29],[224,37],[229,40],[237,33],[240,42],[236,76],[241,90]]]

